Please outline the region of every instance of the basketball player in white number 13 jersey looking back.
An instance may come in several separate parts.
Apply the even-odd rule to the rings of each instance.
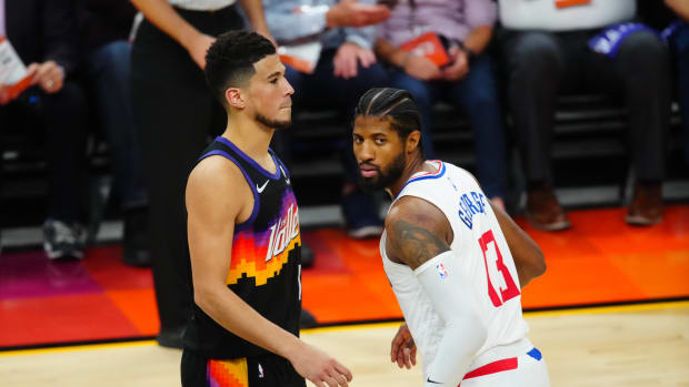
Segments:
[[[521,314],[520,285],[546,269],[538,245],[469,172],[425,160],[409,92],[363,94],[353,141],[365,185],[393,200],[380,253],[406,324],[392,361],[416,364],[418,347],[427,387],[549,386]]]

